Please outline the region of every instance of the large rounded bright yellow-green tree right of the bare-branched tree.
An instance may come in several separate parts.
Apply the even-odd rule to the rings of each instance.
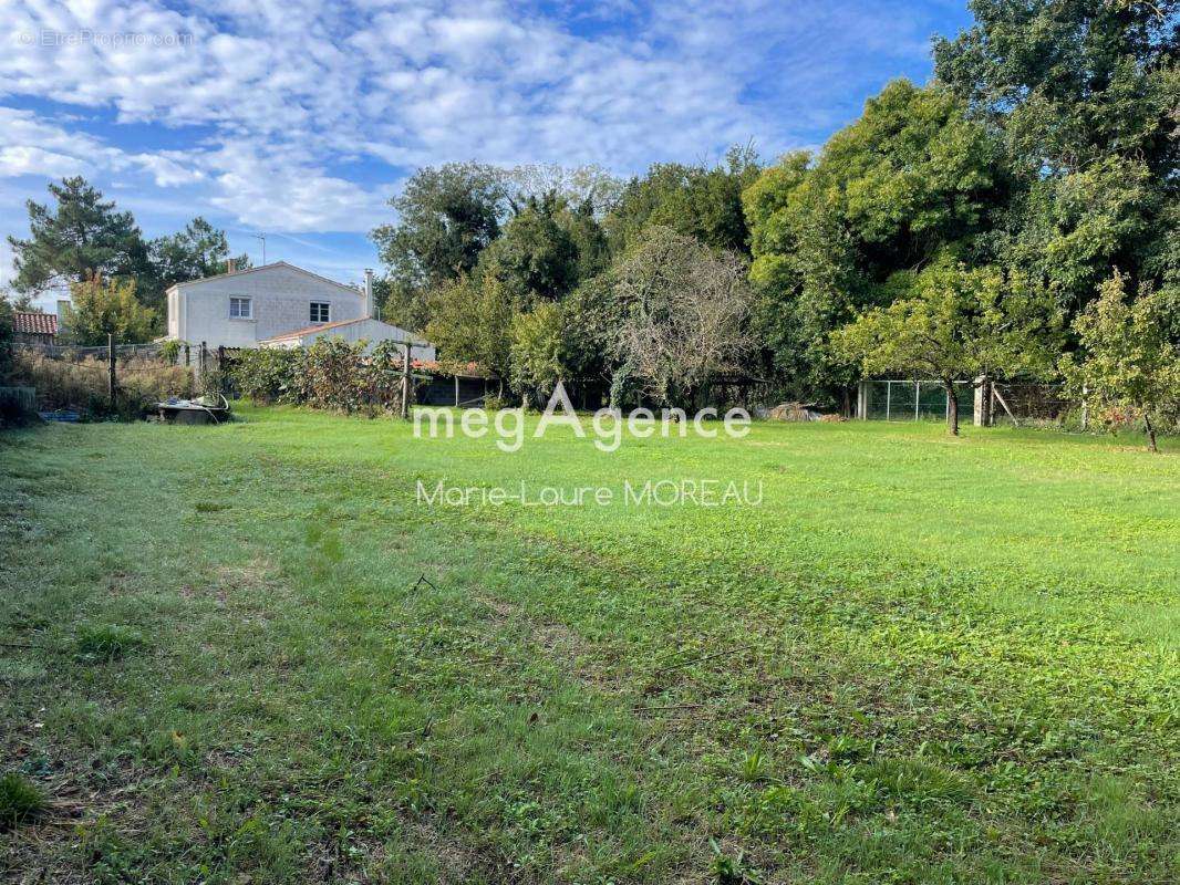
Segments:
[[[889,84],[817,159],[796,152],[743,195],[771,368],[800,396],[839,398],[859,367],[831,347],[856,312],[906,294],[912,271],[984,251],[1007,203],[997,139],[945,87]]]

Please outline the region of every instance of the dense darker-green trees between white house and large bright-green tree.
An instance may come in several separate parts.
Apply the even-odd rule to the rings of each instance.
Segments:
[[[605,398],[623,375],[655,399],[681,396],[700,384],[677,374],[696,366],[691,354],[671,365],[675,378],[634,372],[621,345],[634,312],[618,271],[656,230],[675,235],[680,266],[694,266],[696,280],[736,267],[748,254],[741,194],[758,172],[749,150],[712,169],[658,164],[628,183],[594,168],[420,170],[393,201],[399,221],[373,231],[387,268],[384,316],[498,373],[529,402],[558,380]],[[700,303],[700,294],[677,297]],[[691,322],[663,319],[664,330]],[[725,330],[735,335],[716,342],[725,352],[747,340],[743,327]]]

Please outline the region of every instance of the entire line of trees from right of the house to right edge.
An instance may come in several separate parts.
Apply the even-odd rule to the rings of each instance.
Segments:
[[[419,170],[372,235],[386,317],[525,401],[597,379],[683,405],[745,372],[847,411],[866,374],[988,374],[1175,420],[1176,4],[971,8],[930,83],[815,153]]]

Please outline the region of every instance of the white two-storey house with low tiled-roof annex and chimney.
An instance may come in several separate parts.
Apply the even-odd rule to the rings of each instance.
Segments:
[[[168,293],[166,339],[216,347],[299,347],[321,335],[405,341],[405,329],[373,319],[373,271],[355,289],[286,261],[177,283]],[[413,339],[425,343],[421,339]],[[414,348],[415,360],[435,359]]]

